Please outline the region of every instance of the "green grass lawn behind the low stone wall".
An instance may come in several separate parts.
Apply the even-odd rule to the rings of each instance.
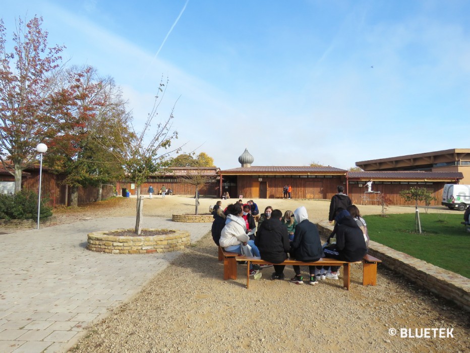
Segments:
[[[415,233],[415,214],[365,216],[374,242],[470,278],[470,233],[462,214],[420,213],[422,234]]]

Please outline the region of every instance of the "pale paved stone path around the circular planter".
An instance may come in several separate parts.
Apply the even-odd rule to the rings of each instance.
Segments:
[[[78,222],[0,235],[0,352],[64,352],[85,327],[129,301],[181,253],[120,255],[86,250],[87,234],[133,228],[135,217]],[[188,230],[210,223],[145,217],[145,228]]]

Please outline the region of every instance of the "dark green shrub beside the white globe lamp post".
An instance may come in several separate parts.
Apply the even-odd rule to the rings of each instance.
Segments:
[[[52,216],[52,208],[41,200],[39,218]],[[34,191],[20,191],[16,195],[0,195],[0,219],[36,219],[37,194]]]

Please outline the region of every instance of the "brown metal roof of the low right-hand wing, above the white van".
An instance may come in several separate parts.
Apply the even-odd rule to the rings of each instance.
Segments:
[[[420,179],[455,181],[463,179],[460,171],[349,171],[349,179]]]

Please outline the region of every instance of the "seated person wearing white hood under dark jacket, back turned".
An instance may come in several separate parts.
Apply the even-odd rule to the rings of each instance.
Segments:
[[[318,261],[320,258],[325,257],[317,226],[309,221],[306,208],[304,206],[299,207],[294,211],[294,217],[298,224],[296,225],[292,249],[290,250],[291,257],[299,261]],[[290,281],[296,284],[304,283],[300,266],[295,265],[293,269],[296,276],[291,278]],[[309,266],[309,270],[309,284],[316,284],[315,266]]]

